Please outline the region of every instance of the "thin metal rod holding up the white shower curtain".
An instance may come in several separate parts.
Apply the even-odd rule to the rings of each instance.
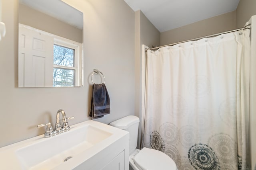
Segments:
[[[166,46],[172,46],[172,45],[176,45],[176,44],[179,44],[179,43],[185,43],[185,42],[188,42],[188,41],[195,41],[195,40],[202,39],[202,38],[214,37],[214,36],[217,36],[217,35],[221,35],[221,34],[225,34],[225,33],[231,33],[231,32],[238,31],[238,30],[242,30],[242,29],[250,29],[250,28],[251,28],[251,24],[248,24],[248,25],[246,25],[245,27],[242,27],[242,28],[232,29],[232,30],[230,30],[230,31],[225,31],[225,32],[222,32],[222,33],[216,33],[216,34],[212,34],[212,35],[206,35],[206,36],[204,36],[204,37],[199,37],[199,38],[190,39],[190,40],[186,40],[186,41],[180,41],[180,42],[178,42],[178,43],[172,43],[172,44],[163,45],[163,46],[160,46],[160,47],[154,47],[154,48],[151,48],[151,49],[145,49],[145,51],[154,50],[154,49],[159,49],[159,48],[161,48],[161,47],[166,47]]]

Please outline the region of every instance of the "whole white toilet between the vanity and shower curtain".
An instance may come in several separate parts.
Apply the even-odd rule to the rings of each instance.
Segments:
[[[177,170],[175,162],[167,154],[149,148],[136,149],[139,118],[129,115],[111,122],[109,125],[130,133],[129,163],[134,170]]]

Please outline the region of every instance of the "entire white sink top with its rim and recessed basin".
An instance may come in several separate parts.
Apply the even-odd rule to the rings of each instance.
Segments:
[[[0,169],[73,169],[124,135],[104,123],[85,121],[54,137],[40,135],[0,148]]]

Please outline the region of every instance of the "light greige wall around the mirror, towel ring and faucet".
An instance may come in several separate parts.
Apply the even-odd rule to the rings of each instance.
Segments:
[[[18,88],[18,0],[2,1],[6,36],[0,41],[0,147],[44,133],[64,109],[70,125],[89,119],[91,74],[99,69],[110,95],[110,123],[134,115],[134,11],[123,0],[64,0],[84,12],[84,86]],[[113,8],[114,7],[114,8]]]

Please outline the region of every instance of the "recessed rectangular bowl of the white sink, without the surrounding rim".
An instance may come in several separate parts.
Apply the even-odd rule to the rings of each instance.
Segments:
[[[51,168],[49,165],[58,165],[58,162],[63,162],[69,156],[77,155],[111,135],[112,133],[88,124],[74,131],[70,129],[67,133],[56,135],[50,140],[42,140],[18,149],[16,154],[24,169],[49,169]]]

